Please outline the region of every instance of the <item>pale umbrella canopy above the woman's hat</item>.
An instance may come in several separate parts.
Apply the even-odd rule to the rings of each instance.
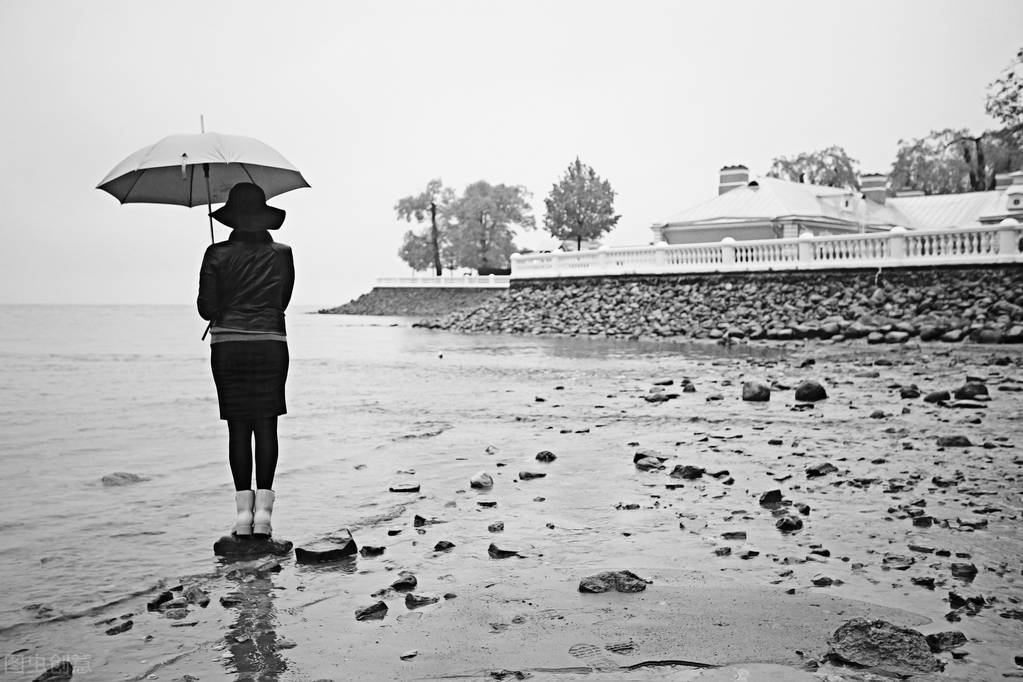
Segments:
[[[96,188],[122,203],[196,207],[226,201],[239,182],[259,185],[267,198],[309,186],[291,162],[255,138],[198,133],[171,135],[139,149],[114,167]]]

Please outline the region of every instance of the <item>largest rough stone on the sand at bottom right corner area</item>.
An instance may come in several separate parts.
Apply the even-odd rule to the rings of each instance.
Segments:
[[[886,621],[861,618],[846,621],[829,643],[831,654],[843,663],[902,677],[940,669],[923,634]]]

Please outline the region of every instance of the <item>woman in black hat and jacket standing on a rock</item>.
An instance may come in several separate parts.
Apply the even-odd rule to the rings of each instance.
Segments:
[[[295,286],[295,262],[291,246],[267,232],[283,224],[284,212],[268,207],[258,185],[234,185],[213,217],[233,231],[227,241],[206,249],[196,303],[198,314],[211,322],[213,379],[220,418],[227,421],[237,510],[234,534],[269,536],[277,417],[287,412],[284,310]]]

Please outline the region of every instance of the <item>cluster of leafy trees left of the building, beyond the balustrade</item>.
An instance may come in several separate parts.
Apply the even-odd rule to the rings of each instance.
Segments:
[[[459,194],[440,179],[418,194],[398,199],[398,218],[419,225],[408,230],[398,256],[413,270],[440,276],[444,268],[472,268],[480,274],[510,266],[518,230],[536,229],[530,193],[521,185],[492,185],[479,180]],[[618,224],[615,191],[589,166],[576,158],[544,199],[544,228],[551,236],[583,241],[596,239]]]

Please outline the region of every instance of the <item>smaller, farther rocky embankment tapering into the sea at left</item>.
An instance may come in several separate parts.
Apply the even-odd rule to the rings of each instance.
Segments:
[[[488,303],[503,289],[444,287],[374,287],[368,293],[323,314],[337,315],[447,315]]]

